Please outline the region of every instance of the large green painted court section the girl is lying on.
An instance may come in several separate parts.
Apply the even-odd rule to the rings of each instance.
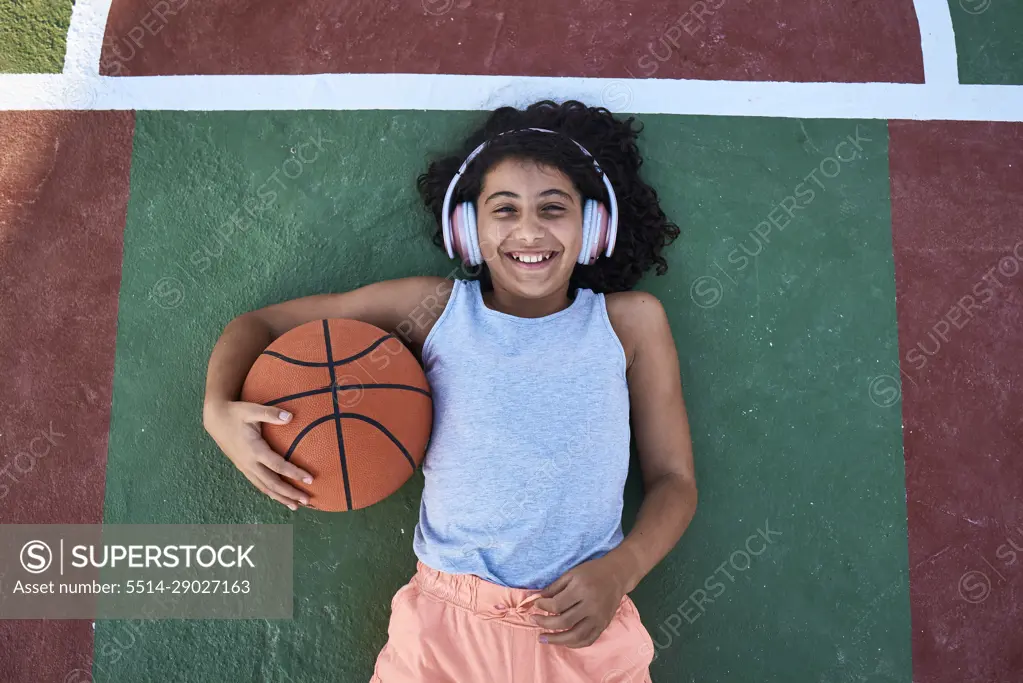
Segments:
[[[364,510],[290,512],[257,493],[203,431],[206,359],[243,311],[449,273],[413,179],[480,116],[139,115],[104,519],[294,521],[295,620],[148,622],[130,648],[118,646],[130,624],[103,622],[101,680],[369,678],[390,598],[414,566],[421,475]],[[868,392],[875,368],[897,360],[886,128],[643,122],[648,177],[684,229],[669,275],[643,288],[671,316],[704,492],[684,541],[633,595],[658,644],[655,680],[754,670],[764,680],[874,670],[904,680],[899,420]],[[746,267],[729,262],[740,242],[756,248],[751,231],[783,216],[774,207],[857,133],[859,158],[820,176],[824,189]],[[300,149],[309,140],[322,148]],[[300,154],[316,156],[301,172],[288,162]],[[275,172],[284,186],[258,202],[257,220],[219,234],[235,210],[257,208]],[[727,275],[712,270],[715,261]],[[691,294],[703,273],[727,286],[706,309]],[[627,526],[640,496],[634,470]]]

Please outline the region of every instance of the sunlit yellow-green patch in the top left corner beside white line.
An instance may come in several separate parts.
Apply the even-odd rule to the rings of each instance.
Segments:
[[[57,74],[74,0],[0,0],[0,72]]]

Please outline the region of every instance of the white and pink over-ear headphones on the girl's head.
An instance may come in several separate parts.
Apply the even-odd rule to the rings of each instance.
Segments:
[[[494,139],[499,138],[501,135],[518,133],[519,131],[539,131],[541,133],[561,135],[561,133],[545,128],[522,128],[501,133]],[[571,140],[572,138],[569,139]],[[454,194],[454,188],[458,184],[458,179],[461,178],[470,163],[491,141],[487,140],[474,149],[462,163],[458,172],[454,174],[454,178],[448,184],[447,192],[444,193],[444,207],[441,210],[441,232],[444,235],[444,248],[447,249],[449,258],[453,259],[457,253],[462,262],[469,266],[479,266],[484,261],[483,253],[480,251],[479,233],[476,230],[476,206],[473,201],[462,201],[455,207],[454,211],[451,211],[451,196]],[[579,258],[576,262],[589,266],[596,261],[601,252],[604,252],[604,256],[610,257],[615,251],[615,240],[618,237],[618,199],[615,197],[615,190],[611,186],[611,181],[608,180],[608,176],[601,170],[601,165],[596,163],[593,155],[581,144],[575,140],[572,141],[593,162],[593,168],[601,175],[605,187],[608,188],[608,197],[611,200],[610,212],[604,203],[596,199],[586,199],[583,206],[582,247],[579,249]]]

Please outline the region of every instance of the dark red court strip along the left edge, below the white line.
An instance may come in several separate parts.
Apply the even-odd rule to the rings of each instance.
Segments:
[[[0,523],[103,518],[134,121],[0,111]],[[91,671],[89,621],[3,620],[0,642],[4,683]]]

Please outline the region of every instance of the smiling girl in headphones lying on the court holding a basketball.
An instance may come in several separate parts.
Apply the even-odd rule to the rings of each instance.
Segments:
[[[632,291],[651,266],[666,271],[679,232],[639,178],[632,123],[576,101],[497,109],[418,179],[434,243],[466,277],[270,306],[213,350],[206,428],[292,510],[308,498],[287,480],[312,476],[260,437],[290,416],[237,401],[260,352],[305,322],[354,318],[426,368],[417,568],[391,602],[372,683],[651,680],[653,641],[627,593],[688,526],[697,488],[668,320]],[[630,430],[644,497],[623,537]]]

